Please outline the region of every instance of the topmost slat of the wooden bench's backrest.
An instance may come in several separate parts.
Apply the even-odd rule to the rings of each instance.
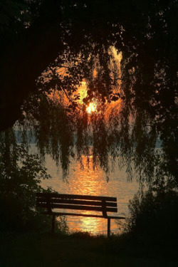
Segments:
[[[88,196],[80,194],[57,194],[57,193],[36,193],[36,197],[48,197],[48,198],[59,198],[59,199],[83,199],[83,200],[105,200],[105,201],[117,201],[117,197],[98,197],[98,196]]]

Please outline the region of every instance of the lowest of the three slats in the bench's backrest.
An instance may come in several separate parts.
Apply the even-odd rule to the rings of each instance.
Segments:
[[[48,203],[37,203],[38,207],[48,208]],[[85,211],[103,211],[102,207],[99,206],[76,206],[67,204],[50,204],[51,209],[80,209]],[[105,211],[117,212],[117,208],[106,208]]]

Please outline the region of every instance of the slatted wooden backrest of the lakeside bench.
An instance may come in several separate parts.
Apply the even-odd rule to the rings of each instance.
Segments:
[[[37,193],[36,206],[46,208],[48,214],[52,213],[52,209],[78,209],[100,211],[104,217],[107,217],[108,211],[117,212],[117,198],[78,194]]]

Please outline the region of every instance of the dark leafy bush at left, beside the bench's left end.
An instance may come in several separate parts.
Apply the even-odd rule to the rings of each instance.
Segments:
[[[0,138],[1,231],[50,231],[51,217],[36,211],[36,192],[46,192],[41,179],[50,175],[37,154],[29,153],[22,144],[16,145],[13,130],[1,132]],[[58,229],[66,231],[66,227],[61,218]]]

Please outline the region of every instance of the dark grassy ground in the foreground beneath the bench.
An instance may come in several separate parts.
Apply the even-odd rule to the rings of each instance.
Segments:
[[[0,267],[178,266],[174,259],[142,255],[122,237],[19,234],[1,236]],[[136,253],[137,252],[137,253]]]

